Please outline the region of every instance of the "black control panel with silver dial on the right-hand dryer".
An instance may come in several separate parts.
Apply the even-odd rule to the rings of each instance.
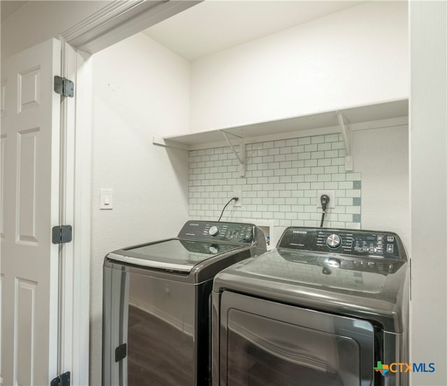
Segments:
[[[359,257],[406,258],[399,236],[381,231],[291,227],[284,231],[279,247]]]

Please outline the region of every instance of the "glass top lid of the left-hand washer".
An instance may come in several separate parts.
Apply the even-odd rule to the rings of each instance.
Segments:
[[[172,239],[119,249],[107,257],[144,267],[189,273],[202,261],[240,248],[240,245]]]

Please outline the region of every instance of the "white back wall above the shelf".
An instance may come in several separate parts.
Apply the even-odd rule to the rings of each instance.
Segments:
[[[363,3],[193,61],[191,130],[406,99],[408,60],[406,1]]]

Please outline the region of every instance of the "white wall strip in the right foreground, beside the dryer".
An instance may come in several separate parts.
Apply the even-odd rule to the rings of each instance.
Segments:
[[[447,3],[411,1],[413,385],[447,385]]]

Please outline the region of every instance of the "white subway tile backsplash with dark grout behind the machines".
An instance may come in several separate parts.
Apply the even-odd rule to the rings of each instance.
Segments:
[[[237,149],[239,146],[235,146]],[[341,134],[325,134],[246,146],[246,175],[228,146],[189,152],[189,215],[217,219],[242,190],[242,206],[230,206],[224,220],[269,219],[277,226],[319,226],[317,191],[333,190],[335,208],[325,226],[360,229],[361,173],[346,173]]]

